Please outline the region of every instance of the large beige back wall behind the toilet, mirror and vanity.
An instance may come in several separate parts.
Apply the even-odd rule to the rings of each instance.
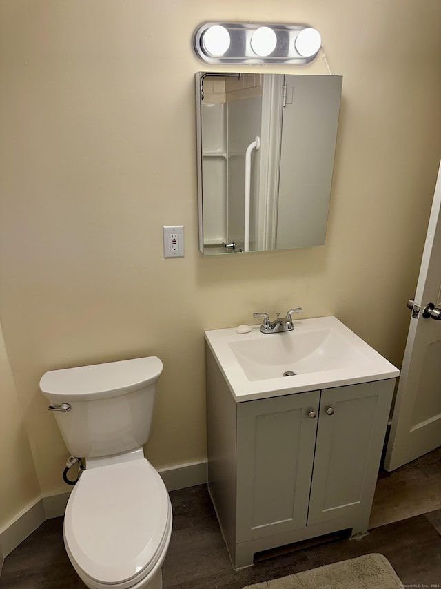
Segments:
[[[160,467],[205,458],[205,329],[301,305],[400,364],[441,151],[440,9],[0,0],[0,316],[43,493],[64,490],[67,457],[39,394],[48,369],[157,354]],[[325,247],[198,252],[194,73],[208,68],[192,34],[216,19],[310,23],[343,76]],[[285,71],[327,73],[322,59]],[[183,259],[163,259],[169,224],[185,225]]]

